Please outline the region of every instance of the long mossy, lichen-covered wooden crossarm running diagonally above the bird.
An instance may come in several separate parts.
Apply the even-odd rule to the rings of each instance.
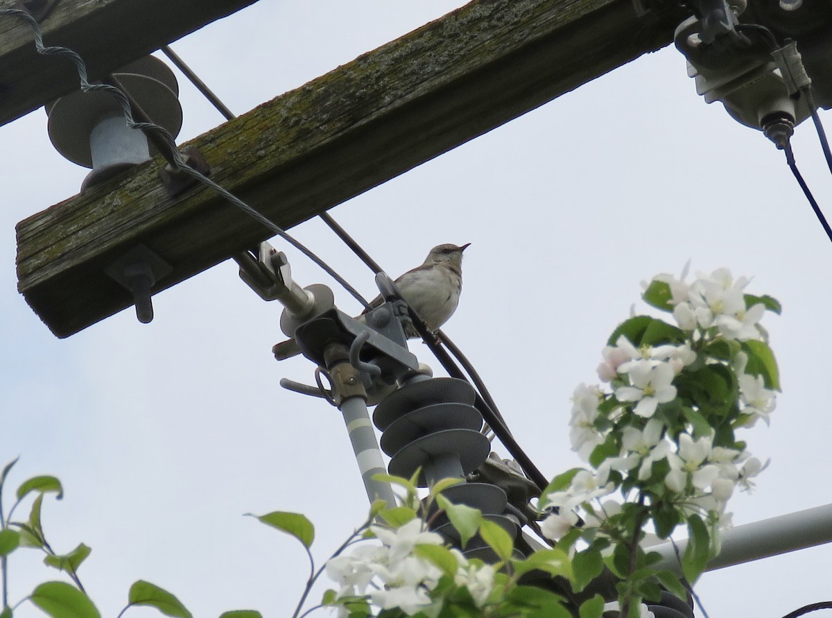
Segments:
[[[191,143],[291,227],[665,45],[680,20],[630,0],[475,0]],[[104,269],[138,243],[173,267],[157,292],[270,236],[208,189],[167,197],[161,165],[18,224],[18,287],[57,336],[131,304]]]

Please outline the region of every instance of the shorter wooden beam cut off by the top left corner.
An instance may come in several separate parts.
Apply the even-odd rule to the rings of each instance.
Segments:
[[[95,80],[255,0],[62,0],[41,24],[44,44],[81,54]],[[0,8],[14,8],[0,2]],[[72,92],[78,76],[65,58],[42,56],[32,30],[0,17],[0,125]]]

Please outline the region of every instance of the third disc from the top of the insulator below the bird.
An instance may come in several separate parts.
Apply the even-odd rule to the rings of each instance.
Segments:
[[[463,474],[476,470],[488,457],[491,442],[479,431],[449,429],[428,434],[410,442],[390,460],[388,470],[395,476],[409,478],[417,468],[424,467],[434,457],[454,455],[459,457]],[[426,487],[424,474],[419,475],[418,486]]]

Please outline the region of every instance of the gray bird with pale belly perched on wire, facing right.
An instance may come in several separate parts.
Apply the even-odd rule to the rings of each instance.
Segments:
[[[453,316],[453,311],[457,310],[459,294],[463,289],[463,251],[470,244],[468,242],[458,247],[446,243],[433,247],[420,266],[395,280],[405,302],[425,321],[430,331],[441,328]],[[375,297],[361,315],[383,303],[384,299],[380,295]],[[362,318],[359,316],[357,319]],[[405,334],[409,339],[418,337],[411,324],[407,326]],[[275,356],[288,358],[300,354],[300,347],[291,339],[277,344],[273,351]]]

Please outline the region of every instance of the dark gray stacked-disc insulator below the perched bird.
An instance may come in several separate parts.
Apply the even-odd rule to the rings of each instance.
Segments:
[[[409,478],[421,468],[418,486],[443,478],[465,478],[483,464],[491,451],[480,433],[483,416],[473,406],[473,386],[456,378],[440,377],[411,382],[376,406],[373,421],[382,431],[380,446],[390,456],[390,474]],[[498,486],[464,483],[449,487],[443,496],[455,504],[472,506],[516,538],[520,529],[512,516],[503,515],[508,498]],[[460,539],[447,516],[433,520],[434,531],[454,545]],[[477,537],[468,541],[465,555],[496,560],[493,551]]]

